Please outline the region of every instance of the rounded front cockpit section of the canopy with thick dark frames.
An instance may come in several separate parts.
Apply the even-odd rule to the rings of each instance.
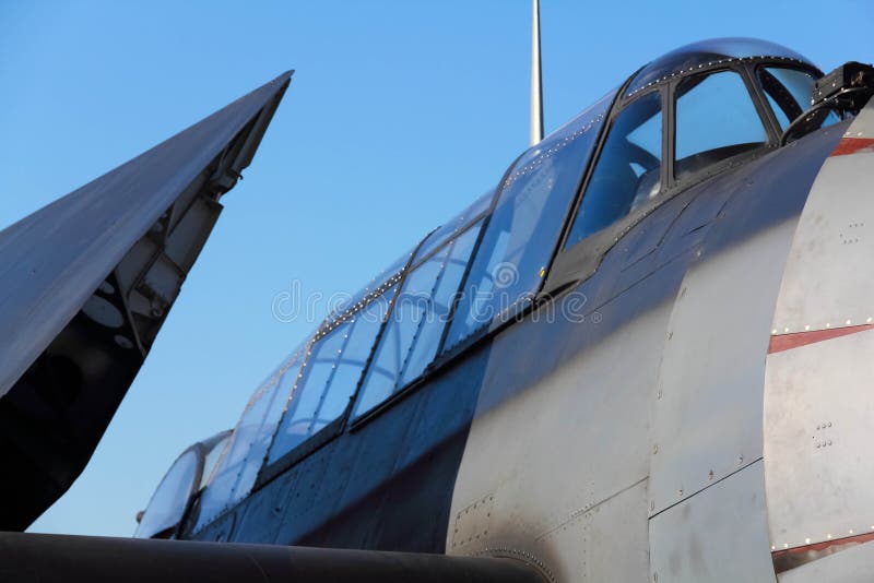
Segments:
[[[565,249],[779,147],[819,76],[801,55],[749,38],[695,43],[640,69],[613,105]]]

